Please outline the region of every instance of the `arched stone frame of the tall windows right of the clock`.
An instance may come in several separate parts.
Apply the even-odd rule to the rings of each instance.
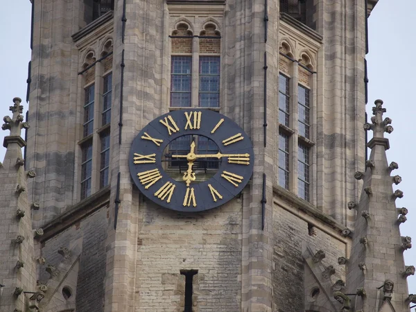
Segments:
[[[286,62],[290,63],[287,69],[279,69],[279,75],[282,74],[289,78],[289,123],[288,126],[279,122],[279,133],[284,133],[284,135],[289,137],[289,173],[288,173],[288,185],[286,189],[295,193],[296,196],[306,200],[307,202],[314,203],[316,200],[315,186],[314,186],[314,177],[316,176],[316,148],[315,148],[315,128],[316,128],[316,94],[317,94],[317,81],[316,75],[314,73],[314,66],[312,58],[308,51],[302,50],[297,53],[299,55],[295,57],[295,49],[289,40],[284,38],[281,40],[279,47],[279,58],[286,59]],[[280,62],[279,62],[280,63]],[[302,71],[307,71],[309,73],[309,78],[307,81],[301,79]],[[309,136],[304,137],[300,135],[300,120],[299,120],[299,89],[300,87],[309,90]],[[277,89],[279,89],[279,80],[277,83]],[[279,98],[278,98],[279,101]],[[279,105],[279,103],[278,103]],[[279,119],[279,116],[278,116]],[[278,136],[279,137],[279,136]],[[306,148],[309,153],[309,183],[308,192],[306,196],[300,194],[300,172],[299,172],[299,162],[300,148]],[[279,159],[278,159],[279,161]],[[279,177],[277,180],[279,187],[283,187],[279,184]]]

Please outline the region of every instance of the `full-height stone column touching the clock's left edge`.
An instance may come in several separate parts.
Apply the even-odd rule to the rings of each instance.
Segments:
[[[111,148],[110,220],[107,237],[107,275],[105,311],[135,311],[137,233],[143,209],[139,191],[132,186],[128,153],[135,135],[148,122],[162,114],[162,72],[166,67],[163,47],[167,46],[163,0],[126,0],[127,24],[122,42],[123,1],[114,8],[114,62]],[[121,62],[124,50],[124,79]],[[166,51],[166,50],[165,50]],[[121,98],[123,87],[123,98]],[[121,103],[122,101],[122,103]],[[123,125],[119,144],[119,116],[123,105]],[[120,184],[117,186],[117,175]],[[121,201],[116,229],[114,218],[116,194]]]

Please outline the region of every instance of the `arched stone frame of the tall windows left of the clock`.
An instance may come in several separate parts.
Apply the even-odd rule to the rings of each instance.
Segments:
[[[78,141],[78,150],[80,155],[80,166],[78,171],[78,177],[80,179],[77,183],[77,193],[79,194],[77,196],[78,200],[84,200],[85,198],[88,198],[89,196],[92,196],[94,193],[99,191],[100,189],[103,189],[107,187],[107,185],[110,183],[110,177],[107,177],[106,181],[107,184],[101,183],[102,180],[102,156],[103,156],[103,139],[107,138],[107,136],[110,136],[110,121],[107,122],[105,125],[103,125],[103,101],[106,96],[104,94],[104,78],[112,75],[113,68],[112,68],[112,59],[110,57],[107,57],[107,62],[109,62],[107,66],[107,69],[105,69],[105,55],[112,52],[113,49],[113,40],[112,37],[105,37],[105,39],[102,41],[103,44],[100,46],[99,50],[100,54],[98,58],[96,57],[96,53],[94,49],[88,49],[87,53],[84,54],[84,57],[81,58],[83,60],[82,66],[80,68],[80,71],[85,71],[87,67],[92,66],[89,70],[85,71],[85,73],[82,73],[79,75],[78,85],[80,86],[80,94],[79,94],[79,103],[84,103],[83,99],[85,98],[85,89],[87,87],[90,87],[94,85],[94,118],[93,118],[93,131],[92,134],[84,136],[84,131],[80,131],[81,135],[79,137]],[[104,58],[104,59],[103,59]],[[88,60],[92,60],[88,61]],[[103,60],[101,60],[103,59]],[[98,61],[97,61],[98,60]],[[99,61],[101,60],[101,62]],[[91,79],[91,81],[86,81],[86,76],[88,74],[88,71],[94,71],[94,77]],[[112,83],[113,89],[114,83]],[[114,93],[111,92],[112,100],[111,102],[114,102]],[[107,92],[108,93],[108,92]],[[83,110],[80,111],[80,120],[84,121],[84,112]],[[82,173],[82,156],[83,156],[83,150],[85,148],[88,148],[89,146],[92,146],[92,170],[91,170],[91,186],[89,192],[84,192],[81,185],[81,177],[83,176]],[[111,146],[111,137],[110,137],[110,144]],[[106,148],[107,150],[107,148]],[[110,157],[111,159],[111,149],[110,149]],[[107,174],[110,175],[110,166],[108,168],[104,168],[107,171]]]

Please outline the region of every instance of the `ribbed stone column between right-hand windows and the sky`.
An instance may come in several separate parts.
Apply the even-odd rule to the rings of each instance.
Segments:
[[[364,0],[315,0],[315,5],[325,73],[323,83],[318,81],[324,88],[318,111],[322,141],[318,139],[317,146],[323,163],[318,162],[318,170],[325,173],[324,183],[318,185],[318,206],[339,223],[353,226],[354,215],[346,207],[358,196],[358,184],[348,173],[362,167],[365,157],[365,134],[358,124],[365,118]]]

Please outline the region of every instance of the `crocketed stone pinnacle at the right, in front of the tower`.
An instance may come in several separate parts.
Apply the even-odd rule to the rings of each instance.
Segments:
[[[411,239],[401,237],[399,230],[407,209],[396,208],[395,201],[403,192],[394,191],[392,184],[399,184],[401,177],[390,175],[398,166],[395,162],[389,165],[385,155],[390,146],[384,132],[392,132],[392,120],[383,119],[383,101],[377,100],[375,105],[372,123],[364,125],[374,133],[367,144],[371,148],[367,170],[355,173],[355,178],[364,182],[361,199],[348,205],[356,209],[356,222],[347,260],[347,294],[336,292],[334,297],[343,302],[341,311],[404,312],[409,311],[406,277],[415,272],[413,266],[404,265],[404,251],[411,248]]]

